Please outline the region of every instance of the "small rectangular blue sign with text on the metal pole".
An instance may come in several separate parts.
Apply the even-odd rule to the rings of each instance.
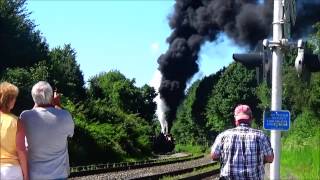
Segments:
[[[265,111],[263,128],[268,130],[288,131],[290,128],[289,111]]]

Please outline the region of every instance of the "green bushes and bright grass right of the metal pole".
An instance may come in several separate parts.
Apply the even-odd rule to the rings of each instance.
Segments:
[[[319,53],[320,24],[310,37],[309,51]],[[286,61],[294,60],[294,53]],[[292,126],[282,138],[281,177],[320,178],[320,73],[311,75],[310,83],[297,78],[294,69],[285,67],[284,106],[293,116]]]

